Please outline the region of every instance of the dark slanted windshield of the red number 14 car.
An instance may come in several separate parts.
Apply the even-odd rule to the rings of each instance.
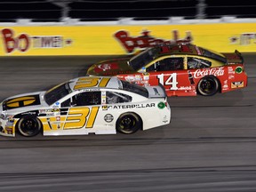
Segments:
[[[149,48],[148,50],[144,52],[140,52],[140,54],[134,56],[130,61],[130,66],[138,71],[140,68],[147,65],[150,61],[156,59],[157,53],[158,53],[157,47]]]

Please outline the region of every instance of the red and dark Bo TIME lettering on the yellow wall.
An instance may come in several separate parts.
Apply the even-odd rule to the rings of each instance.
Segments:
[[[30,47],[36,49],[61,48],[73,42],[71,39],[64,40],[62,36],[28,36],[25,33],[15,36],[11,28],[2,29],[1,33],[6,53],[12,53],[14,51],[27,52]]]

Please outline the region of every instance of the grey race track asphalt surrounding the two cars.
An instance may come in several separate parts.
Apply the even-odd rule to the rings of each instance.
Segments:
[[[106,57],[0,58],[0,99],[84,76]],[[256,55],[248,87],[173,97],[172,122],[132,135],[0,138],[0,191],[256,191]]]

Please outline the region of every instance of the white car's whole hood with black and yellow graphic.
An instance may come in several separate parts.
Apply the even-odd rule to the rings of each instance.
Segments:
[[[43,96],[44,92],[29,92],[15,95],[4,100],[2,102],[2,108],[4,111],[18,108],[30,108],[35,106],[39,108],[45,105]]]

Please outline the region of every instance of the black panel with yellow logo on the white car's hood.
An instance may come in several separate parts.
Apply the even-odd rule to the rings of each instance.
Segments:
[[[39,105],[39,95],[31,95],[31,96],[25,96],[20,98],[15,98],[11,100],[7,100],[6,107],[7,108],[21,108],[31,105]]]

